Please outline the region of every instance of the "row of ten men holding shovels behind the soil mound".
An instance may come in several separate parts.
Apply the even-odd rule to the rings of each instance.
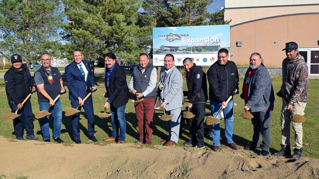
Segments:
[[[286,56],[283,61],[283,84],[277,93],[283,98],[281,110],[281,127],[282,127],[282,149],[275,153],[276,156],[291,155],[290,150],[290,112],[303,115],[308,97],[308,67],[303,57],[298,53],[298,45],[295,42],[286,43]],[[217,112],[224,106],[225,118],[225,136],[227,144],[232,149],[237,150],[239,147],[233,141],[233,101],[226,103],[226,99],[238,93],[239,77],[236,64],[228,61],[229,54],[227,49],[220,49],[218,52],[218,62],[211,65],[207,71],[209,82],[209,102],[211,104],[211,115],[216,116]],[[85,102],[82,99],[94,89],[93,74],[91,74],[89,61],[84,61],[83,54],[79,49],[73,51],[74,61],[65,68],[65,79],[69,89],[69,99],[72,107],[78,104],[83,105],[88,117],[89,139],[97,141],[94,137],[94,114],[92,97]],[[183,79],[180,71],[174,66],[174,56],[167,54],[164,58],[164,67],[161,69],[160,80],[158,85],[156,68],[149,64],[147,54],[139,55],[139,65],[134,68],[129,87],[126,82],[124,70],[116,63],[116,56],[113,53],[107,53],[104,56],[106,73],[104,97],[108,98],[104,107],[110,108],[112,119],[112,136],[104,141],[114,141],[125,143],[126,119],[125,107],[129,100],[129,91],[138,98],[144,98],[141,102],[135,102],[137,126],[139,130],[139,139],[136,143],[151,144],[152,142],[152,125],[155,107],[155,98],[160,97],[161,106],[166,113],[172,116],[167,121],[168,137],[162,140],[164,146],[172,146],[178,142],[181,110],[183,103]],[[29,88],[34,88],[30,80],[30,72],[26,66],[22,65],[21,57],[17,54],[11,57],[12,68],[5,75],[6,92],[8,102],[15,111],[21,106],[21,101],[28,94]],[[49,104],[54,104],[50,112],[54,118],[53,139],[58,143],[63,142],[60,138],[62,107],[58,100],[54,103],[53,99],[65,89],[61,74],[57,68],[50,65],[51,57],[45,53],[41,56],[42,66],[35,73],[34,80],[38,88],[38,101],[40,111],[45,110]],[[260,155],[269,154],[269,145],[271,140],[271,112],[273,110],[274,92],[272,81],[268,70],[262,63],[261,55],[253,53],[249,59],[250,67],[246,72],[241,98],[245,101],[244,109],[250,111],[254,118],[252,124],[253,140],[250,146],[244,147],[247,150],[262,148]],[[208,100],[206,74],[193,63],[191,58],[185,58],[183,61],[184,68],[187,72],[186,81],[188,87],[188,106],[195,115],[190,119],[189,136],[190,140],[186,141],[186,146],[196,146],[204,148],[204,115],[205,104]],[[22,78],[25,76],[25,78]],[[55,82],[56,81],[56,82]],[[24,88],[26,86],[26,88]],[[23,88],[21,88],[23,87]],[[28,100],[20,113],[26,118],[27,139],[37,140],[33,134],[32,128],[32,110],[31,103]],[[218,116],[220,118],[220,116]],[[48,117],[41,119],[41,130],[44,141],[50,141]],[[76,143],[81,143],[79,135],[79,114],[72,116],[73,138]],[[220,123],[212,125],[213,150],[218,151],[220,146]],[[17,139],[23,140],[21,119],[14,119],[14,130]],[[293,146],[295,158],[301,158],[302,152],[302,123],[293,122],[295,131],[295,142]],[[260,138],[263,138],[262,147]]]

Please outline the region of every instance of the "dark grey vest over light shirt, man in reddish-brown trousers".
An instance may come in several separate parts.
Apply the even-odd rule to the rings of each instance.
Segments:
[[[138,65],[137,67],[134,68],[133,70],[133,75],[134,75],[134,89],[137,90],[137,93],[143,93],[146,88],[149,85],[150,79],[151,79],[151,74],[152,70],[155,67],[151,64],[148,64],[146,66],[146,69],[144,73],[142,74],[142,71],[140,69],[140,66]],[[156,88],[152,90],[148,95],[145,96],[145,98],[155,98],[156,97]]]

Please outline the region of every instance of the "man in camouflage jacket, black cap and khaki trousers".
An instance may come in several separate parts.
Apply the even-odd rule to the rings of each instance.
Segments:
[[[298,53],[295,42],[286,43],[287,58],[282,62],[283,84],[277,93],[282,97],[281,109],[281,140],[282,149],[275,156],[291,156],[290,151],[290,115],[304,115],[308,98],[308,66],[303,56]],[[302,123],[293,122],[295,145],[293,158],[300,159],[302,153]]]

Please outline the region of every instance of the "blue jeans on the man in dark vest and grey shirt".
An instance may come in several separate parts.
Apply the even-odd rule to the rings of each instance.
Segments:
[[[39,102],[39,108],[40,111],[45,111],[49,106],[49,102]],[[61,101],[58,100],[49,109],[49,112],[52,114],[53,117],[53,138],[56,139],[60,137],[61,134],[61,122],[62,122],[62,105]],[[50,115],[41,118],[40,119],[40,125],[41,125],[41,131],[42,131],[42,136],[43,140],[50,139],[50,132],[49,132],[49,118]]]

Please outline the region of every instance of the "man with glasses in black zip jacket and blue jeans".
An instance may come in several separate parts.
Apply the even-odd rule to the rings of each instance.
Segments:
[[[234,150],[239,149],[233,141],[233,99],[226,104],[226,100],[234,92],[238,92],[238,71],[233,61],[228,61],[228,50],[222,48],[218,51],[218,62],[211,65],[207,71],[209,82],[209,99],[211,104],[211,115],[216,116],[219,109],[224,106],[225,136],[228,146]],[[218,116],[220,118],[220,116]],[[220,126],[219,123],[212,125],[212,137],[214,151],[219,150]]]

